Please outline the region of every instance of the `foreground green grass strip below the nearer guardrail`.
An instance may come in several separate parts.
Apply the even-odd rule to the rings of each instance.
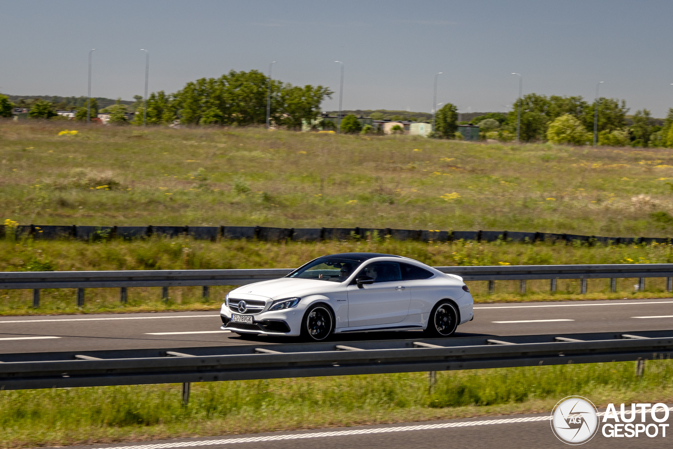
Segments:
[[[648,361],[180,385],[0,392],[0,447],[101,444],[427,419],[549,412],[569,394],[606,403],[670,402],[673,364]]]

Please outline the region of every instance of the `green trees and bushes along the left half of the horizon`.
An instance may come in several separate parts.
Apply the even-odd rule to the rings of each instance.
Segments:
[[[332,92],[322,85],[297,86],[269,78],[257,70],[229,71],[219,78],[201,78],[189,81],[184,88],[174,94],[163,90],[152,92],[147,98],[147,124],[167,125],[180,120],[184,125],[261,125],[267,121],[267,94],[271,91],[271,122],[289,129],[300,129],[302,123],[314,123],[320,114],[320,104],[331,98]],[[145,104],[136,96],[134,125],[143,124]],[[5,105],[5,106],[3,106]],[[13,104],[7,97],[0,98],[0,115],[11,116]],[[50,118],[55,116],[55,104],[39,99],[31,104],[29,116]],[[9,114],[3,112],[9,110]],[[108,106],[106,112],[115,115],[113,123],[125,123],[123,112],[127,105]],[[92,99],[92,117],[98,111],[98,104]],[[76,120],[86,119],[87,108],[80,106]],[[4,115],[3,115],[4,114]],[[110,118],[112,121],[112,117]]]

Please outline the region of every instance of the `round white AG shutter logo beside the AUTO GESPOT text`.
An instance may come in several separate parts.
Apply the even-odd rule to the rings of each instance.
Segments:
[[[568,396],[554,406],[551,429],[566,444],[584,444],[598,431],[596,412],[596,407],[588,399]]]

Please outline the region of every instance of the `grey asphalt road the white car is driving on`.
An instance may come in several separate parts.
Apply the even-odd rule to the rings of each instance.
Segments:
[[[476,304],[474,314],[474,320],[458,327],[457,337],[658,331],[673,329],[673,298]],[[219,331],[220,325],[219,312],[0,317],[0,352],[96,351],[293,341],[277,337],[239,337]],[[353,333],[339,337],[339,340],[405,339],[419,334],[419,331]]]

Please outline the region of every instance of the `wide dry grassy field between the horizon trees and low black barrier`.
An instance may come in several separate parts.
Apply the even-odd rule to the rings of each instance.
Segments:
[[[66,127],[79,133],[59,136]],[[0,218],[22,224],[668,236],[671,180],[665,148],[0,125]]]

